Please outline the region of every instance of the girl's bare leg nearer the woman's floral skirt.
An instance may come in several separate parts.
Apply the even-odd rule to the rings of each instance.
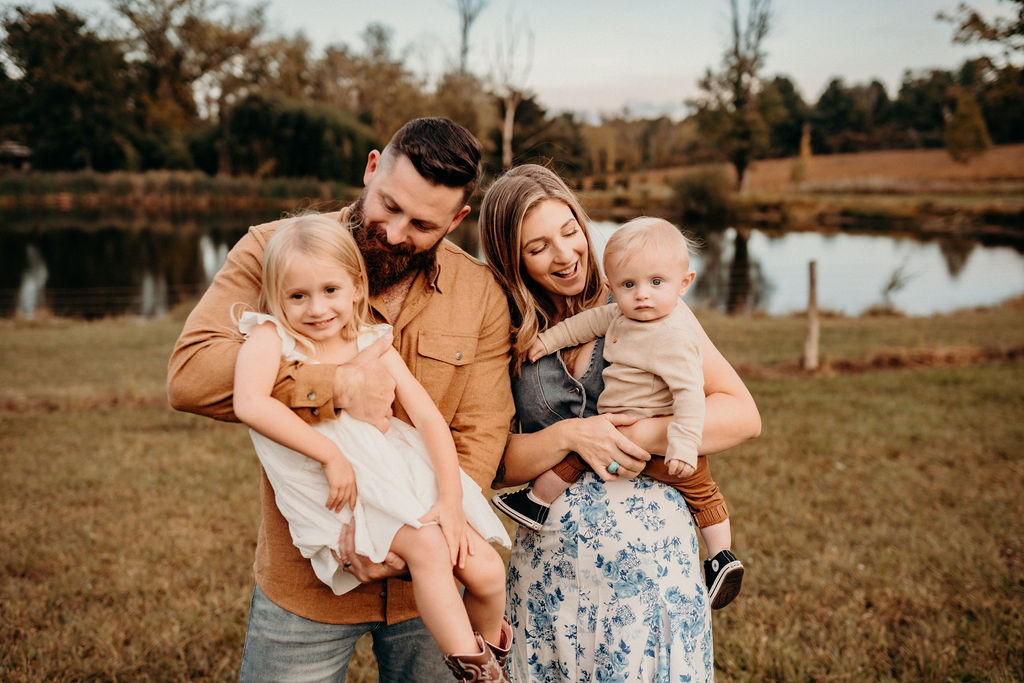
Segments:
[[[455,575],[466,587],[463,602],[473,630],[488,643],[497,643],[505,617],[505,562],[476,529],[470,527],[469,533],[475,553],[462,569],[456,567]]]

